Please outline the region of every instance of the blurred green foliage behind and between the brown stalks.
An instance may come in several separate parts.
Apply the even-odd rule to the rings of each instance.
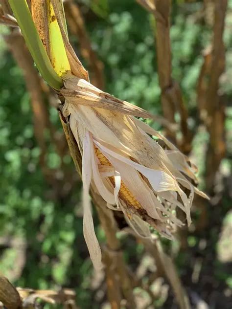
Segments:
[[[153,17],[134,0],[82,2],[87,5],[85,19],[93,48],[104,63],[106,90],[154,113],[161,113]],[[202,19],[198,20],[202,7],[203,1],[173,1],[171,20],[173,78],[181,84],[193,131],[198,124],[195,89],[203,63],[201,52],[211,39],[210,27]],[[227,72],[221,85],[228,102],[232,100],[232,0],[229,7],[225,30]],[[1,26],[0,33],[6,32]],[[71,36],[71,41],[79,54],[77,39]],[[81,184],[76,183],[66,199],[54,199],[53,188],[47,184],[39,165],[40,149],[33,134],[30,98],[23,75],[3,40],[0,41],[0,58],[0,240],[17,237],[26,243],[26,263],[16,284],[33,288],[75,287],[81,308],[98,308],[91,303],[92,264],[83,239],[82,219],[77,216]],[[226,128],[231,132],[230,105],[227,114]],[[59,126],[55,109],[50,109],[50,119]],[[155,126],[159,129],[157,124]],[[227,137],[228,142],[232,141],[231,133]],[[49,142],[49,136],[47,139]],[[207,140],[207,133],[200,132],[193,141],[200,175],[205,168],[202,145]],[[60,158],[52,146],[47,160],[51,168],[60,168]],[[230,164],[229,159],[225,162]],[[71,164],[68,158],[67,166],[74,169]],[[225,209],[228,207],[227,203]],[[100,228],[98,236],[104,239]],[[188,236],[190,247],[199,243],[197,237]],[[210,240],[212,250],[217,239]],[[135,252],[139,259],[143,251],[143,247],[132,240],[123,247],[129,264],[135,263]],[[0,272],[9,276],[19,264],[18,256],[13,246],[7,249],[3,246],[3,249],[0,247]],[[186,272],[186,260],[185,253],[177,257],[181,273]],[[218,269],[221,274],[220,265],[216,272]],[[230,276],[220,278],[231,286]]]

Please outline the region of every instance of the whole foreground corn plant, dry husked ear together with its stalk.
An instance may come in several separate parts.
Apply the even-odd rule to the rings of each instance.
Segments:
[[[34,27],[34,23],[31,21],[31,15],[28,7],[24,5],[25,1],[21,1],[21,6],[16,0],[9,1],[21,26],[30,52],[34,57],[42,76],[47,80],[52,88],[56,88],[58,90],[62,103],[64,98],[66,99],[65,105],[62,106],[63,104],[61,104],[60,107],[62,110],[62,112],[60,112],[60,119],[76,169],[80,175],[81,170],[83,171],[83,197],[86,205],[84,212],[88,212],[88,217],[85,217],[84,213],[84,236],[86,238],[94,265],[100,265],[100,248],[99,244],[95,242],[96,237],[93,229],[93,219],[91,217],[91,206],[88,200],[89,185],[91,182],[90,172],[92,172],[90,165],[92,165],[93,174],[95,173],[95,178],[93,179],[94,184],[97,187],[97,191],[101,192],[101,195],[104,196],[105,200],[110,200],[109,204],[114,204],[116,201],[116,205],[119,207],[118,199],[120,200],[120,206],[122,207],[121,210],[124,212],[125,218],[129,224],[134,224],[133,228],[139,231],[139,235],[143,237],[150,237],[150,230],[147,224],[149,223],[166,237],[170,238],[171,226],[168,225],[170,221],[174,221],[181,225],[181,222],[174,218],[172,214],[168,213],[167,209],[165,209],[165,207],[159,202],[157,199],[159,194],[161,199],[163,199],[164,205],[167,205],[166,207],[169,208],[169,203],[167,203],[167,201],[173,203],[174,207],[177,205],[181,207],[181,209],[186,213],[188,224],[190,224],[190,207],[194,190],[201,196],[206,196],[196,187],[193,188],[192,184],[180,173],[180,171],[184,170],[185,173],[193,179],[193,181],[196,179],[194,172],[191,170],[191,166],[187,163],[188,159],[179,153],[175,146],[172,145],[164,136],[162,136],[162,134],[156,132],[136,118],[132,118],[132,116],[140,116],[144,118],[149,117],[150,114],[148,112],[140,109],[139,107],[135,107],[128,102],[116,99],[110,94],[93,87],[93,85],[89,83],[88,72],[76,57],[67,37],[62,1],[44,1],[44,6],[34,6],[34,3],[37,2],[32,1],[32,15],[34,17],[38,32]],[[22,5],[24,5],[23,9]],[[46,12],[41,12],[40,10],[46,10]],[[41,17],[39,22],[36,22],[37,16]],[[162,20],[162,14],[159,16],[161,16]],[[44,20],[46,20],[46,24],[43,23],[42,17],[45,17]],[[29,29],[29,31],[27,30],[27,21],[29,21],[28,24],[32,28],[34,27],[33,29]],[[41,35],[45,42],[43,45],[39,34],[47,27],[49,31],[46,34],[43,33],[43,35]],[[33,35],[33,40],[31,40],[31,35]],[[49,38],[48,44],[46,42],[47,37]],[[56,48],[57,46],[59,46],[59,48]],[[37,50],[39,51],[38,54],[36,52]],[[72,74],[70,72],[66,73],[66,71],[70,71]],[[60,76],[62,76],[61,80],[59,78]],[[79,105],[81,105],[83,109],[80,109]],[[81,115],[83,116],[83,113],[81,114],[81,112],[85,111],[88,111],[88,117],[87,121],[85,118],[82,120],[85,124],[83,134],[83,125],[78,122],[78,117]],[[91,113],[92,117],[94,115],[92,121],[90,121]],[[105,141],[103,138],[103,142],[107,144],[110,136],[114,136],[114,138],[116,136],[117,138],[115,139],[115,145],[117,146],[112,145],[112,147],[108,149],[104,146],[105,144],[99,143],[99,139],[97,139],[100,131],[100,127],[98,125],[99,123],[104,126],[105,130],[106,126],[108,128],[108,131],[102,131],[105,138]],[[121,126],[123,130],[119,130],[118,126]],[[105,132],[107,132],[108,135],[104,135]],[[123,132],[127,132],[127,134],[123,134]],[[128,139],[128,134],[130,134],[130,132],[132,132],[132,134]],[[146,133],[159,137],[159,139],[167,145],[169,150],[165,153],[162,147],[154,142],[154,140],[151,139]],[[118,138],[121,138],[120,143],[117,143]],[[94,144],[92,144],[93,142]],[[114,140],[112,142],[114,142]],[[77,146],[77,143],[79,147]],[[120,155],[123,154],[120,149],[120,146],[123,145],[123,143],[130,147],[127,147],[127,151],[130,150],[131,152],[130,157]],[[143,145],[140,148],[137,147],[137,144],[139,143]],[[92,145],[94,145],[94,147],[92,147]],[[116,147],[116,152],[112,151],[112,149],[114,150]],[[155,159],[153,158],[154,152]],[[94,158],[94,161],[90,155]],[[159,163],[158,165],[157,162]],[[176,169],[175,164],[178,165],[178,169]],[[146,165],[149,168],[146,167]],[[116,166],[119,169],[120,174],[123,175],[123,172],[128,171],[131,175],[133,175],[133,177],[124,176],[123,180],[120,180],[120,185],[118,186],[116,181],[118,181],[119,173],[117,172]],[[94,170],[95,168],[98,170]],[[106,184],[99,177],[99,168],[101,168],[101,173],[102,169],[103,173],[110,173],[110,175],[107,174],[107,186],[108,188],[115,187],[114,194],[107,189]],[[114,172],[113,175],[112,170]],[[139,171],[140,174],[137,171]],[[176,179],[173,176],[174,174],[178,175],[176,176]],[[102,186],[99,186],[96,179],[99,180],[99,183],[101,183]],[[133,181],[137,181],[137,183],[141,185],[141,190],[143,190],[142,192],[144,192],[144,194],[138,194],[138,192],[136,192],[135,186],[133,186]],[[180,181],[180,183],[183,186],[186,186],[186,188],[190,191],[188,198],[186,193],[184,193],[178,185],[178,181]],[[118,189],[117,193],[116,189]],[[155,192],[152,191],[153,189],[158,192],[156,193],[157,196],[155,195]],[[102,190],[105,191],[103,192]],[[169,195],[172,191],[177,191],[179,193],[183,204],[181,204],[178,200],[173,199],[174,196]],[[109,299],[112,307],[113,304],[115,306],[113,308],[119,308],[120,300],[122,298],[120,293],[122,293],[124,298],[127,300],[128,306],[132,306],[134,308],[135,302],[132,284],[128,276],[127,268],[123,262],[122,253],[118,252],[119,243],[116,239],[116,223],[113,219],[111,211],[106,209],[105,203],[103,204],[101,199],[98,199],[100,200],[100,202],[98,202],[98,194],[96,193],[93,185],[91,192],[93,200],[96,202],[98,213],[100,214],[99,219],[107,237],[108,251],[105,254],[104,261],[107,269]],[[148,199],[146,199],[146,194]],[[152,203],[154,203],[154,205],[156,203],[157,208],[161,207],[159,209],[159,213],[155,209],[156,207],[151,207],[151,203],[148,202],[149,197],[153,197]],[[142,202],[140,203],[139,200],[142,200]],[[143,208],[143,206],[145,207]],[[165,212],[170,217],[162,216],[162,212]],[[162,218],[160,216],[162,216]],[[167,222],[164,220],[167,220]],[[111,224],[109,224],[110,222]],[[109,252],[109,249],[111,252]],[[114,255],[114,259],[112,258],[112,253]],[[116,269],[116,274],[119,279],[117,279],[116,276],[112,277],[114,275],[114,272],[112,272],[112,266]],[[116,286],[116,295],[114,295],[112,290],[112,282],[114,282]],[[175,284],[173,284],[173,286],[175,290]],[[180,297],[178,297],[178,295],[177,300],[180,301]],[[181,305],[181,308],[184,308],[183,305]]]

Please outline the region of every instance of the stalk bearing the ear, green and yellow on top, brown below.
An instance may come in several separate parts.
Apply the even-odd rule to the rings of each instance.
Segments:
[[[34,3],[36,5],[34,5]],[[49,5],[48,10],[46,6],[47,3]],[[84,78],[87,81],[89,81],[88,72],[84,69],[81,63],[78,62],[78,60],[76,60],[76,58],[73,57],[74,52],[68,41],[65,41],[63,43],[63,39],[62,39],[61,41],[62,44],[61,46],[59,45],[58,53],[57,53],[57,49],[55,48],[55,44],[57,44],[57,41],[56,41],[57,31],[59,29],[61,29],[61,32],[65,31],[61,27],[61,25],[58,24],[55,18],[55,15],[59,16],[60,13],[62,14],[62,10],[59,11],[59,6],[58,6],[58,4],[62,5],[62,2],[53,1],[53,3],[51,3],[49,1],[48,2],[44,1],[44,6],[41,7],[37,5],[38,4],[37,1],[34,2],[32,0],[32,3],[31,3],[32,4],[32,10],[31,10],[32,16],[34,17],[34,21],[35,21],[35,25],[38,30],[38,33],[39,35],[42,36],[42,42],[44,43],[44,46],[41,45],[41,41],[39,41],[39,38],[38,38],[38,33],[34,30],[32,23],[30,22],[30,19],[28,20],[29,20],[29,24],[32,27],[32,29],[30,29],[31,31],[27,31],[27,28],[25,26],[26,22],[25,20],[22,20],[22,15],[20,15],[23,12],[24,17],[27,16],[29,18],[29,14],[28,14],[29,12],[28,11],[26,12],[26,7],[24,6],[23,10],[21,10],[19,2],[13,1],[13,0],[10,1],[10,4],[13,8],[14,14],[17,16],[18,22],[20,23],[24,38],[30,49],[30,52],[42,76],[47,80],[48,84],[50,84],[51,87],[56,88],[56,89],[62,87],[62,82],[59,79],[59,77],[57,77],[57,75],[54,73],[54,69],[58,74],[62,74],[66,69],[71,68],[72,71],[75,72],[76,76],[79,76],[80,78]],[[21,5],[22,4],[24,5],[24,3],[21,3]],[[46,13],[41,12],[43,8],[46,10]],[[39,21],[38,21],[38,16],[40,17]],[[42,17],[45,17],[45,18],[42,18]],[[47,21],[47,17],[48,17],[48,21]],[[54,23],[57,23],[57,25],[54,25]],[[51,26],[49,27],[49,24],[50,25],[52,24],[52,27]],[[46,27],[49,28],[49,33],[44,32],[44,29],[46,29]],[[59,31],[58,31],[58,34],[59,34]],[[32,40],[32,42],[30,41],[31,35],[33,35],[34,37],[34,40]],[[49,40],[48,40],[48,37],[50,37]],[[60,35],[60,38],[61,38],[61,35]],[[62,50],[62,45],[66,46],[67,49],[65,50],[63,47],[63,50]],[[35,55],[35,50],[36,50],[35,46],[39,46],[39,54],[36,54],[36,55]],[[45,50],[46,50],[46,53],[45,53]],[[63,56],[62,56],[62,63],[61,63],[59,62],[59,60],[61,61],[60,54],[62,53],[63,53]],[[68,60],[68,65],[67,65],[67,60]],[[54,69],[51,68],[49,62],[53,65]],[[66,65],[64,65],[65,62],[66,62]],[[48,68],[50,71],[48,71],[48,69],[46,68],[47,64],[49,64]],[[49,75],[49,72],[51,73],[50,75]],[[60,98],[62,100],[61,96]],[[66,139],[67,139],[67,142],[70,148],[70,154],[76,166],[76,170],[81,175],[82,157],[77,147],[76,141],[70,130],[69,118],[68,117],[64,118],[62,113],[60,113],[60,119],[61,119],[61,123],[62,123],[64,132],[66,135]],[[120,308],[120,302],[122,299],[121,293],[127,299],[129,304],[135,305],[134,296],[132,292],[132,285],[130,283],[129,276],[127,275],[127,269],[123,261],[122,252],[119,250],[120,245],[119,245],[118,240],[116,239],[116,230],[113,228],[114,226],[116,228],[114,217],[111,214],[111,210],[107,210],[107,211],[105,210],[106,208],[105,202],[103,201],[103,199],[101,199],[97,195],[94,189],[91,190],[91,193],[92,193],[93,200],[96,201],[99,219],[100,219],[100,222],[102,223],[103,229],[105,230],[106,237],[107,237],[107,248],[104,250],[105,251],[104,261],[106,263],[106,269],[108,269],[107,271],[108,282],[115,281],[117,277],[119,278],[118,282],[115,282],[116,285],[114,285],[114,289],[118,287],[117,288],[118,289],[117,299],[114,296],[115,294],[112,293],[110,290],[112,288],[112,284],[108,285],[109,287],[108,294],[113,295],[113,298],[110,297],[112,306],[114,305],[112,308]],[[109,225],[109,222],[111,222],[110,225]],[[113,257],[112,254],[114,255],[114,259],[112,258]],[[118,272],[118,276],[116,276],[115,273],[112,273],[111,271],[112,265],[116,266],[116,272]]]

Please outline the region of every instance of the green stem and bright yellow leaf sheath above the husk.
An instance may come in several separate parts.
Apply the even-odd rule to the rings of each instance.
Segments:
[[[59,1],[59,3],[62,11],[62,1]],[[47,1],[47,24],[49,31],[51,61],[48,58],[46,49],[32,20],[26,0],[9,0],[9,4],[22,30],[26,45],[35,61],[36,66],[38,67],[40,74],[50,87],[56,90],[61,89],[63,87],[61,75],[65,71],[70,70],[70,64],[51,1]],[[67,31],[64,14],[62,16],[65,30]]]

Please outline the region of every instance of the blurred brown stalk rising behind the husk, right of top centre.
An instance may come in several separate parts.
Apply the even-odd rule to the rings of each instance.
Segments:
[[[175,123],[175,113],[179,113],[182,132],[182,140],[179,142],[179,147],[182,152],[189,154],[191,151],[192,134],[187,125],[188,112],[183,101],[180,86],[172,79],[170,43],[171,0],[137,0],[137,2],[152,13],[156,20],[156,52],[163,115],[170,123]],[[175,132],[167,130],[167,135],[174,143],[178,143]]]

